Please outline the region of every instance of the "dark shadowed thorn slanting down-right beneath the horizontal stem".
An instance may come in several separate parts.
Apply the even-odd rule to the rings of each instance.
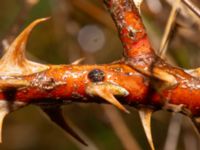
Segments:
[[[69,126],[69,124],[65,121],[63,117],[63,113],[60,107],[50,107],[50,108],[42,108],[45,114],[60,128],[69,133],[72,137],[74,137],[81,144],[88,146],[88,144]]]

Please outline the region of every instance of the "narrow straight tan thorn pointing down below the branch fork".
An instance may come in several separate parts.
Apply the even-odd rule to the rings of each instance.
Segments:
[[[153,138],[151,133],[151,116],[152,116],[153,110],[150,108],[140,108],[139,115],[140,119],[142,121],[142,125],[148,140],[148,143],[152,150],[155,150],[154,144],[153,144]]]

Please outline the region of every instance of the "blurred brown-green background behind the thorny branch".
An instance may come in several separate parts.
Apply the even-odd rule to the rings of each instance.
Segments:
[[[200,2],[193,0],[200,8]],[[144,0],[141,12],[155,50],[159,50],[175,0]],[[200,66],[200,19],[183,3],[167,44],[169,63],[184,68]],[[122,57],[116,28],[100,0],[1,0],[0,52],[30,22],[51,17],[31,34],[27,57],[41,63],[110,63]],[[189,98],[188,98],[189,100]],[[63,106],[66,120],[88,142],[84,147],[51,123],[35,106],[8,115],[1,150],[148,150],[136,109],[130,115],[113,106],[70,104]],[[158,150],[199,150],[200,138],[189,118],[166,111],[154,113],[153,140]]]

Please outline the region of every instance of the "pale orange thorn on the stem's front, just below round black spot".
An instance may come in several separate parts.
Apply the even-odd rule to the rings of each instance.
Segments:
[[[120,110],[130,113],[115,97],[114,95],[127,96],[129,93],[121,86],[112,83],[91,83],[86,88],[86,93],[91,96],[99,96],[107,102],[113,104]]]

